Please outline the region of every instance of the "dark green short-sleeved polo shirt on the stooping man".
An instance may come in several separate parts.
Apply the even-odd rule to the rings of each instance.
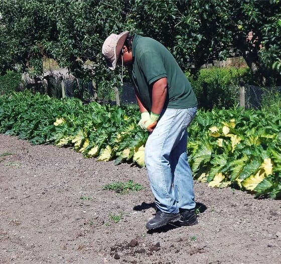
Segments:
[[[190,82],[173,55],[160,42],[135,34],[132,41],[132,56],[130,77],[147,110],[151,111],[152,107],[152,85],[163,77],[167,77],[168,80],[165,107],[185,109],[197,106]]]

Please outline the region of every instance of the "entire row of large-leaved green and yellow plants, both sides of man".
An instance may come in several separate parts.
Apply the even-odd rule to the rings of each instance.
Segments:
[[[145,166],[148,134],[137,127],[136,106],[84,105],[30,92],[0,97],[0,133],[32,144],[72,147],[85,157]],[[256,197],[281,197],[281,117],[242,109],[198,111],[189,128],[194,178]]]

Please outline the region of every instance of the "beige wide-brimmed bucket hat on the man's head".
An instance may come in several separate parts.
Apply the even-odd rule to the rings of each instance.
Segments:
[[[117,59],[119,58],[121,49],[128,36],[129,32],[124,31],[117,34],[111,34],[106,38],[102,45],[102,55],[106,59],[106,63],[109,69],[114,70],[116,67]]]

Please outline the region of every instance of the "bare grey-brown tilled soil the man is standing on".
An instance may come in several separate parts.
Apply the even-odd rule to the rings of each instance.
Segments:
[[[102,190],[128,180],[145,190]],[[0,263],[281,262],[280,200],[194,184],[199,224],[148,231],[145,168],[0,134]]]

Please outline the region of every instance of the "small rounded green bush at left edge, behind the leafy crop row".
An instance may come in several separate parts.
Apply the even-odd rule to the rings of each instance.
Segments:
[[[0,96],[17,91],[21,82],[19,72],[8,70],[5,75],[0,75]]]

